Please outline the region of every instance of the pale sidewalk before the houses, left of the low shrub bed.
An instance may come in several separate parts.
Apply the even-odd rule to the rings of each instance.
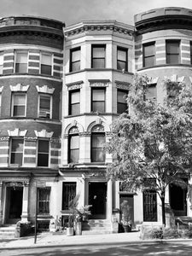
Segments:
[[[34,244],[34,236],[20,237],[19,239],[2,239],[0,249],[3,248],[25,248],[25,247],[49,247],[49,246],[78,246],[89,244],[108,244],[141,242],[139,232],[103,234],[103,235],[83,235],[66,236],[56,233],[38,234],[37,242]]]

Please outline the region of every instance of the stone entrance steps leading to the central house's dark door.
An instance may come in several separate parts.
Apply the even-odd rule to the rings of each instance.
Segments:
[[[108,219],[89,219],[83,222],[82,235],[111,234],[111,222]]]

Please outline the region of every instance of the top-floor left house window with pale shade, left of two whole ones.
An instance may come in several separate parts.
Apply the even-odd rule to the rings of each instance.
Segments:
[[[15,73],[27,73],[28,52],[15,51]]]

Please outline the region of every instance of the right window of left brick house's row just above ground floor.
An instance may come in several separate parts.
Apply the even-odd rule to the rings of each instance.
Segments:
[[[49,166],[49,141],[38,140],[38,166]]]

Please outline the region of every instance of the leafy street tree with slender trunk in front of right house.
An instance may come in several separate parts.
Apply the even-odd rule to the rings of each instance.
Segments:
[[[113,121],[106,150],[113,154],[108,177],[132,191],[154,189],[166,225],[166,187],[186,186],[183,177],[189,177],[192,166],[192,90],[170,79],[164,85],[165,100],[157,104],[147,98],[148,77],[135,76],[127,97],[130,113]]]

